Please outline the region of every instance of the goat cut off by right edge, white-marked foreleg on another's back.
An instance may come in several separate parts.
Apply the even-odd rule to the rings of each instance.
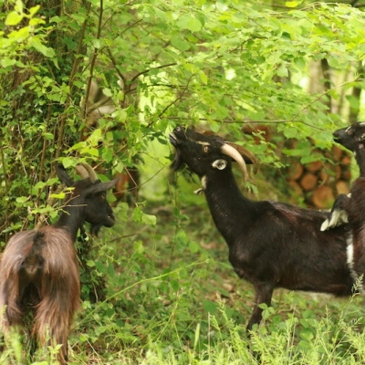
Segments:
[[[333,136],[336,142],[354,153],[360,177],[352,183],[349,195],[342,193],[336,198],[321,230],[349,222],[353,235],[352,244],[348,247],[349,267],[353,270],[353,276],[358,277],[365,274],[365,123],[358,122],[336,130]]]

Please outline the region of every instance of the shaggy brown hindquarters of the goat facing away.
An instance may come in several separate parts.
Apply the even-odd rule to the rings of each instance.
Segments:
[[[47,339],[62,344],[58,360],[67,363],[68,331],[79,308],[78,261],[68,232],[51,226],[19,232],[5,248],[0,264],[0,329],[23,327],[28,310],[30,329],[41,346]]]

